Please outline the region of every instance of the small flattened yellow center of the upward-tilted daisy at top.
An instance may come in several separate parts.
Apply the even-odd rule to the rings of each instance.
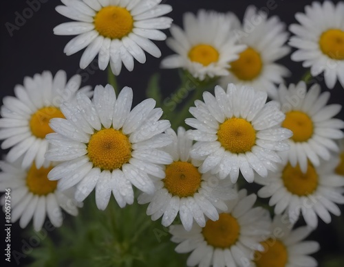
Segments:
[[[189,51],[189,58],[193,62],[208,66],[219,60],[219,52],[211,45],[195,45]]]

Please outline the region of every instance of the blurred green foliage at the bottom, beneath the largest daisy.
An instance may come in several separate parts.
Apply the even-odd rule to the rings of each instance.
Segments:
[[[111,198],[105,211],[87,198],[80,215],[67,218],[34,248],[30,267],[154,267],[185,266],[186,256],[175,253],[168,229],[152,222],[146,206],[124,209]]]

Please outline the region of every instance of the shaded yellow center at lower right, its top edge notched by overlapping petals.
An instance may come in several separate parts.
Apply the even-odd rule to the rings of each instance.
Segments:
[[[318,187],[318,174],[310,162],[305,174],[299,165],[292,167],[288,163],[282,172],[282,180],[286,189],[297,196],[308,196]]]

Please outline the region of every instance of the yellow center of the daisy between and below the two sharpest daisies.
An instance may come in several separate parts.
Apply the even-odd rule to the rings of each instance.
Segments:
[[[180,198],[193,196],[201,185],[201,174],[189,162],[175,161],[168,165],[163,180],[165,188]]]

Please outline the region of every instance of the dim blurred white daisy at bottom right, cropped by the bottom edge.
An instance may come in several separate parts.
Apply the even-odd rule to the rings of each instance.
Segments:
[[[318,263],[309,255],[319,251],[316,241],[303,241],[312,232],[311,227],[292,230],[288,216],[275,216],[270,227],[271,235],[261,245],[264,251],[255,252],[256,267],[316,267]]]

